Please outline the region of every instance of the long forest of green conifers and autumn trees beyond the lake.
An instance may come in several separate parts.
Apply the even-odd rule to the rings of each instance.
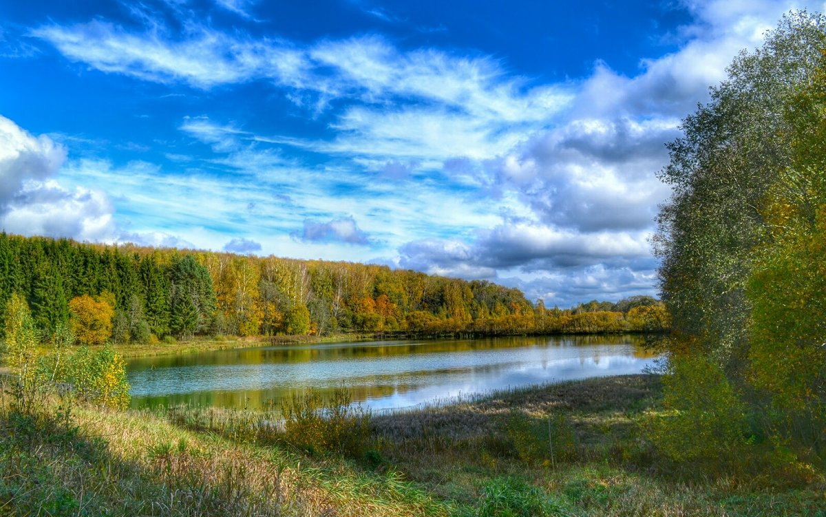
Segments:
[[[518,289],[373,264],[2,233],[0,304],[13,293],[28,302],[45,333],[70,316],[93,313],[112,318],[104,328],[111,325],[119,343],[193,334],[584,334],[670,325],[662,304],[649,296],[546,309]],[[96,309],[95,302],[112,311]]]

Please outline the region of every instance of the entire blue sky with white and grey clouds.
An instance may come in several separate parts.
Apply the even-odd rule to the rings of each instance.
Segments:
[[[0,0],[0,227],[656,296],[665,144],[800,8]]]

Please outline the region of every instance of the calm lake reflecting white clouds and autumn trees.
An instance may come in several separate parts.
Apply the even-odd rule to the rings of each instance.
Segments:
[[[127,363],[132,406],[278,407],[346,387],[373,410],[539,382],[638,373],[656,353],[636,335],[425,339],[273,346]]]

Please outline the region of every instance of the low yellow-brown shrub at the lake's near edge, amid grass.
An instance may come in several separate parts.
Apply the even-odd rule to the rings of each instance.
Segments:
[[[284,438],[311,453],[338,453],[361,458],[371,434],[370,412],[352,405],[345,388],[335,390],[330,401],[319,391],[293,394],[282,402]]]

